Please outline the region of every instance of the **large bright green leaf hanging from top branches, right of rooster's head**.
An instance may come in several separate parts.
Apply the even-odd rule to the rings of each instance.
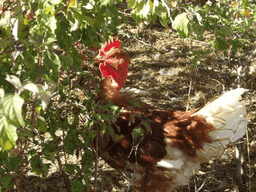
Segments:
[[[172,28],[177,30],[182,38],[185,38],[189,35],[188,23],[187,13],[182,13],[175,17]]]

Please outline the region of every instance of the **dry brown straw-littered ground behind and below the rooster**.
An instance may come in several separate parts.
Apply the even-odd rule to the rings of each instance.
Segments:
[[[125,87],[138,88],[149,94],[140,100],[156,107],[170,110],[191,110],[201,108],[223,91],[238,86],[249,89],[244,101],[247,108],[248,129],[243,138],[246,186],[256,190],[256,59],[252,54],[255,44],[251,44],[235,56],[215,53],[207,42],[213,38],[205,34],[204,40],[181,39],[171,29],[160,26],[144,25],[136,27],[125,24],[122,27],[123,49],[131,57],[131,66]],[[202,49],[210,54],[203,58]],[[192,51],[198,51],[195,58],[201,61],[193,67]],[[89,69],[89,68],[88,68]],[[222,158],[202,164],[202,168],[191,179],[189,186],[181,187],[177,192],[231,192],[235,189],[235,150],[227,148]],[[73,161],[71,157],[71,161]],[[58,168],[52,166],[52,174],[46,180],[33,181],[32,191],[66,191]],[[104,163],[99,163],[98,184],[102,191],[133,191],[122,173]],[[91,178],[92,184],[95,178]],[[26,179],[25,179],[26,181]],[[41,187],[38,187],[41,186]],[[42,188],[42,186],[44,186]],[[40,189],[40,190],[39,190]]]

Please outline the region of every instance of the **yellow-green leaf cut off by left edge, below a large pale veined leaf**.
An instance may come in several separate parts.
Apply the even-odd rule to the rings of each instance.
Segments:
[[[17,127],[7,122],[7,118],[0,115],[0,151],[9,150],[16,147],[18,135]]]

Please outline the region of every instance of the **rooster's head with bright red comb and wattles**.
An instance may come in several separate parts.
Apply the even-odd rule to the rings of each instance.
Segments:
[[[99,50],[100,72],[104,78],[110,78],[112,85],[121,89],[128,74],[128,67],[131,63],[129,55],[121,50],[121,41],[111,38],[105,46]]]

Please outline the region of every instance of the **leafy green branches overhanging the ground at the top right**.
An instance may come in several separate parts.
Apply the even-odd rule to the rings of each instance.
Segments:
[[[231,54],[235,55],[239,49],[249,45],[250,39],[256,37],[256,5],[250,0],[232,3],[228,0],[218,3],[208,1],[203,6],[177,1],[172,9],[163,0],[131,0],[129,6],[134,8],[132,16],[137,22],[144,19],[148,23],[156,23],[159,20],[165,27],[172,23],[173,30],[182,38],[202,40],[205,33],[214,34],[209,44],[215,52],[231,49]],[[191,68],[199,63],[199,60],[191,63]]]

